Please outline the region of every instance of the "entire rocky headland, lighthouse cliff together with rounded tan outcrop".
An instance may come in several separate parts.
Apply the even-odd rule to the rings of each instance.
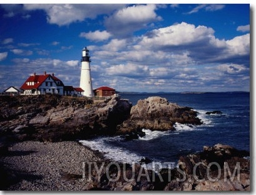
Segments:
[[[137,138],[143,128],[165,131],[174,130],[176,122],[202,124],[192,108],[161,97],[139,100],[132,107],[118,97],[93,103],[86,98],[33,95],[0,97],[0,106],[0,135],[17,141],[76,140],[131,132],[136,135],[131,138]]]

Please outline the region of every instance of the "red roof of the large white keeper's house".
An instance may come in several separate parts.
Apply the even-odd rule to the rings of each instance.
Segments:
[[[33,88],[38,88],[43,82],[44,80],[46,80],[46,78],[51,77],[54,82],[59,81],[61,86],[63,86],[63,82],[61,82],[61,80],[59,80],[59,78],[50,75],[50,74],[44,74],[44,75],[31,75],[30,77],[28,77],[28,79],[23,83],[23,85],[21,86],[21,90],[29,90],[29,89],[33,89]],[[34,85],[28,85],[28,82],[34,82]],[[56,85],[58,85],[56,83]]]

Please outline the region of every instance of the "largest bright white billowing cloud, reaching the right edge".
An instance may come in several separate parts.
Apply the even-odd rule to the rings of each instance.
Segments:
[[[250,34],[231,40],[219,40],[210,27],[195,26],[182,22],[155,29],[142,36],[138,49],[157,49],[170,54],[187,54],[193,63],[234,60],[234,56],[250,55]],[[168,52],[169,51],[169,52]],[[142,53],[141,53],[142,54]],[[157,55],[156,55],[157,56]]]

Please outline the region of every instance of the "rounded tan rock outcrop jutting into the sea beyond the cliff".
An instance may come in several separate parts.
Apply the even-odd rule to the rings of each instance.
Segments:
[[[197,112],[190,107],[180,107],[176,103],[170,103],[166,98],[149,97],[145,100],[138,100],[138,103],[131,108],[130,118],[119,126],[119,131],[128,133],[150,130],[175,130],[175,123],[201,125],[197,118]]]

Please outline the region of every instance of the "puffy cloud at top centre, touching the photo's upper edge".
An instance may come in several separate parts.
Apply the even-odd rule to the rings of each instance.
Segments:
[[[118,37],[128,36],[132,32],[147,27],[151,22],[160,21],[161,17],[157,16],[156,9],[155,4],[125,7],[112,16],[106,17],[106,29]]]

